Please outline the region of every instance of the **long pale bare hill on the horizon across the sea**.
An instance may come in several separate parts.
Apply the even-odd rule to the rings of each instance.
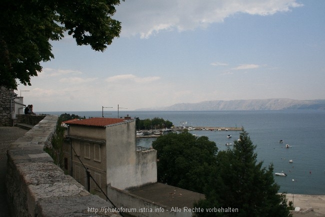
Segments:
[[[217,111],[217,110],[325,110],[325,100],[251,99],[213,100],[198,103],[178,103],[160,108],[137,110],[156,111]]]

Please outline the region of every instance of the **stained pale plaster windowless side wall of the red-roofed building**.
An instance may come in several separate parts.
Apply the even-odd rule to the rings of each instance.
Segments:
[[[156,150],[136,151],[135,121],[106,128],[107,184],[126,189],[157,181]]]

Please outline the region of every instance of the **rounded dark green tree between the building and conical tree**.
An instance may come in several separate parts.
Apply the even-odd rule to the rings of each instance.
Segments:
[[[203,192],[204,183],[216,162],[217,147],[206,136],[195,137],[187,130],[168,133],[152,142],[157,150],[159,182]]]

